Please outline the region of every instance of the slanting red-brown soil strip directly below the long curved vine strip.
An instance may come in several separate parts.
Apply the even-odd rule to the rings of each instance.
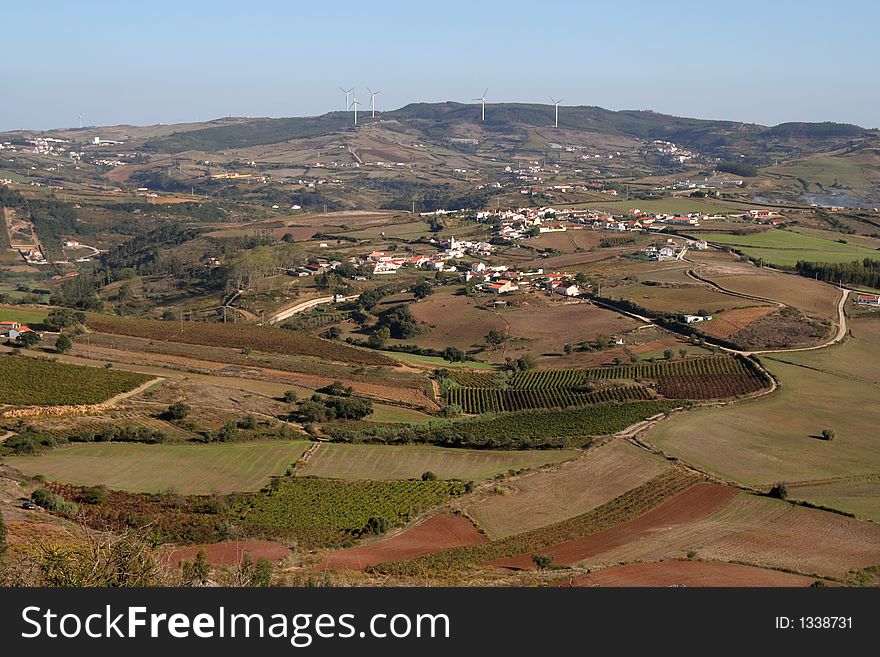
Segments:
[[[595,554],[638,541],[657,531],[702,518],[729,502],[738,492],[731,486],[697,484],[643,516],[585,538],[559,543],[542,550],[541,554],[553,557],[554,563],[577,563]],[[499,559],[488,565],[515,570],[535,568],[531,553]]]

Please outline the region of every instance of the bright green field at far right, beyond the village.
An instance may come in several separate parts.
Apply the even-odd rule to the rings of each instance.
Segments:
[[[693,236],[733,246],[751,258],[763,258],[764,262],[774,265],[794,266],[798,260],[851,262],[880,255],[875,249],[835,241],[843,238],[818,237],[791,230],[771,229],[753,235],[697,232]]]

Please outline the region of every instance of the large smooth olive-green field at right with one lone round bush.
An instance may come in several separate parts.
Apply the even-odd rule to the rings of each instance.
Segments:
[[[858,349],[851,346],[854,343],[833,351]],[[816,353],[825,357],[824,351]],[[780,358],[807,360],[811,354]],[[877,368],[876,355],[861,360],[866,361],[864,368]],[[777,360],[767,359],[765,364],[781,384],[773,395],[674,416],[652,430],[648,441],[689,463],[755,486],[880,470],[880,408],[874,383]],[[855,367],[853,373],[861,369]],[[836,431],[834,441],[819,437],[825,428]]]

